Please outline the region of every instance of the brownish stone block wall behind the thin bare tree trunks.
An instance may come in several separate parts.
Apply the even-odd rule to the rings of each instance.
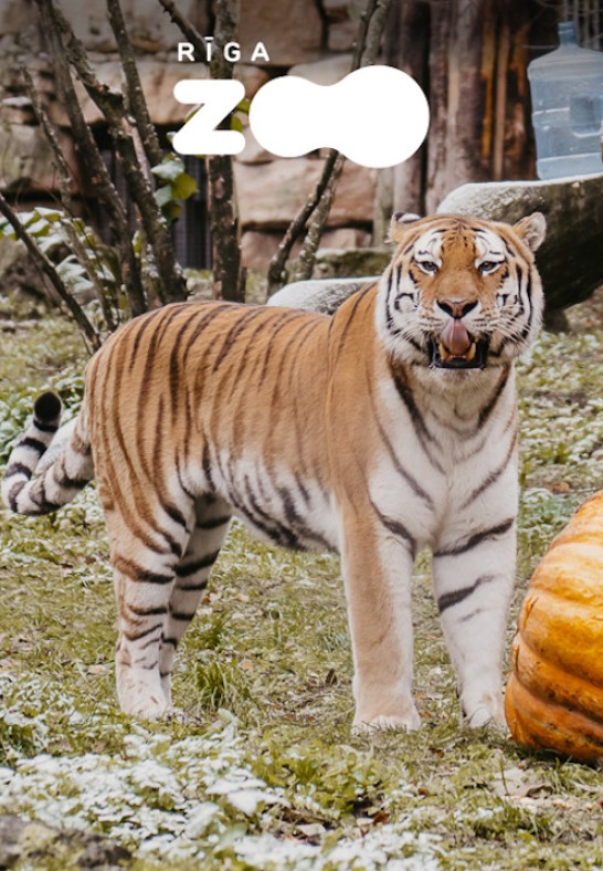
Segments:
[[[201,33],[211,32],[207,9],[200,0],[177,0]],[[362,2],[362,0],[356,0]],[[172,96],[177,81],[205,75],[202,63],[177,62],[177,44],[183,38],[157,0],[123,0],[130,39],[139,55],[139,71],[154,122],[177,129],[187,112]],[[115,42],[105,3],[61,0],[66,17],[84,42],[99,78],[119,86]],[[319,11],[320,10],[320,11]],[[320,84],[341,78],[350,69],[358,9],[346,0],[241,0],[239,42],[242,63],[236,75],[248,97],[276,75],[303,75]],[[23,95],[21,57],[46,95],[49,113],[61,126],[67,160],[77,161],[68,135],[64,108],[54,93],[52,71],[44,54],[43,34],[36,23],[33,0],[0,3],[0,188],[21,201],[55,198],[57,177],[50,148]],[[251,52],[262,41],[268,62],[251,65]],[[246,63],[245,63],[246,61]],[[82,93],[87,120],[102,128],[102,117]],[[318,155],[279,159],[262,149],[246,132],[245,150],[235,158],[235,176],[243,225],[243,251],[247,266],[265,269],[281,235],[297,208],[309,195],[321,167]],[[370,243],[375,174],[353,164],[346,166],[335,199],[325,244],[363,246]],[[74,192],[82,192],[75,170]],[[86,191],[89,193],[89,191]]]

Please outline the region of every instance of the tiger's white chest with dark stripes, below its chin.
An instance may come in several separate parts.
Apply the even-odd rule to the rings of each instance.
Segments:
[[[393,450],[381,457],[370,487],[384,514],[404,518],[417,547],[437,550],[488,517],[517,512],[514,372],[501,375],[484,377],[482,389],[451,392],[445,375],[434,390],[441,374],[430,374],[419,382],[412,411],[390,379],[379,385]]]

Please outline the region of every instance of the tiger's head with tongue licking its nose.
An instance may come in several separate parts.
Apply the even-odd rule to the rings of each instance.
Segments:
[[[432,370],[506,366],[533,340],[543,295],[533,252],[540,212],[515,225],[396,213],[396,249],[378,295],[378,328],[392,356]]]

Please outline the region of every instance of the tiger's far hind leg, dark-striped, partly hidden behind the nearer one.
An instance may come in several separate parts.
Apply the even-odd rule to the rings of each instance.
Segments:
[[[230,506],[223,500],[208,495],[195,502],[194,527],[187,549],[176,566],[159,651],[161,688],[168,704],[171,704],[170,683],[176,649],[208,586],[211,568],[226,537],[230,521]]]

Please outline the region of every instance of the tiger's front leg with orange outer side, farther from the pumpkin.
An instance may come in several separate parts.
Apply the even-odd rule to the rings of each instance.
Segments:
[[[355,665],[353,726],[419,728],[412,696],[411,573],[414,547],[403,527],[350,511],[342,569]],[[371,517],[372,514],[372,517]]]

